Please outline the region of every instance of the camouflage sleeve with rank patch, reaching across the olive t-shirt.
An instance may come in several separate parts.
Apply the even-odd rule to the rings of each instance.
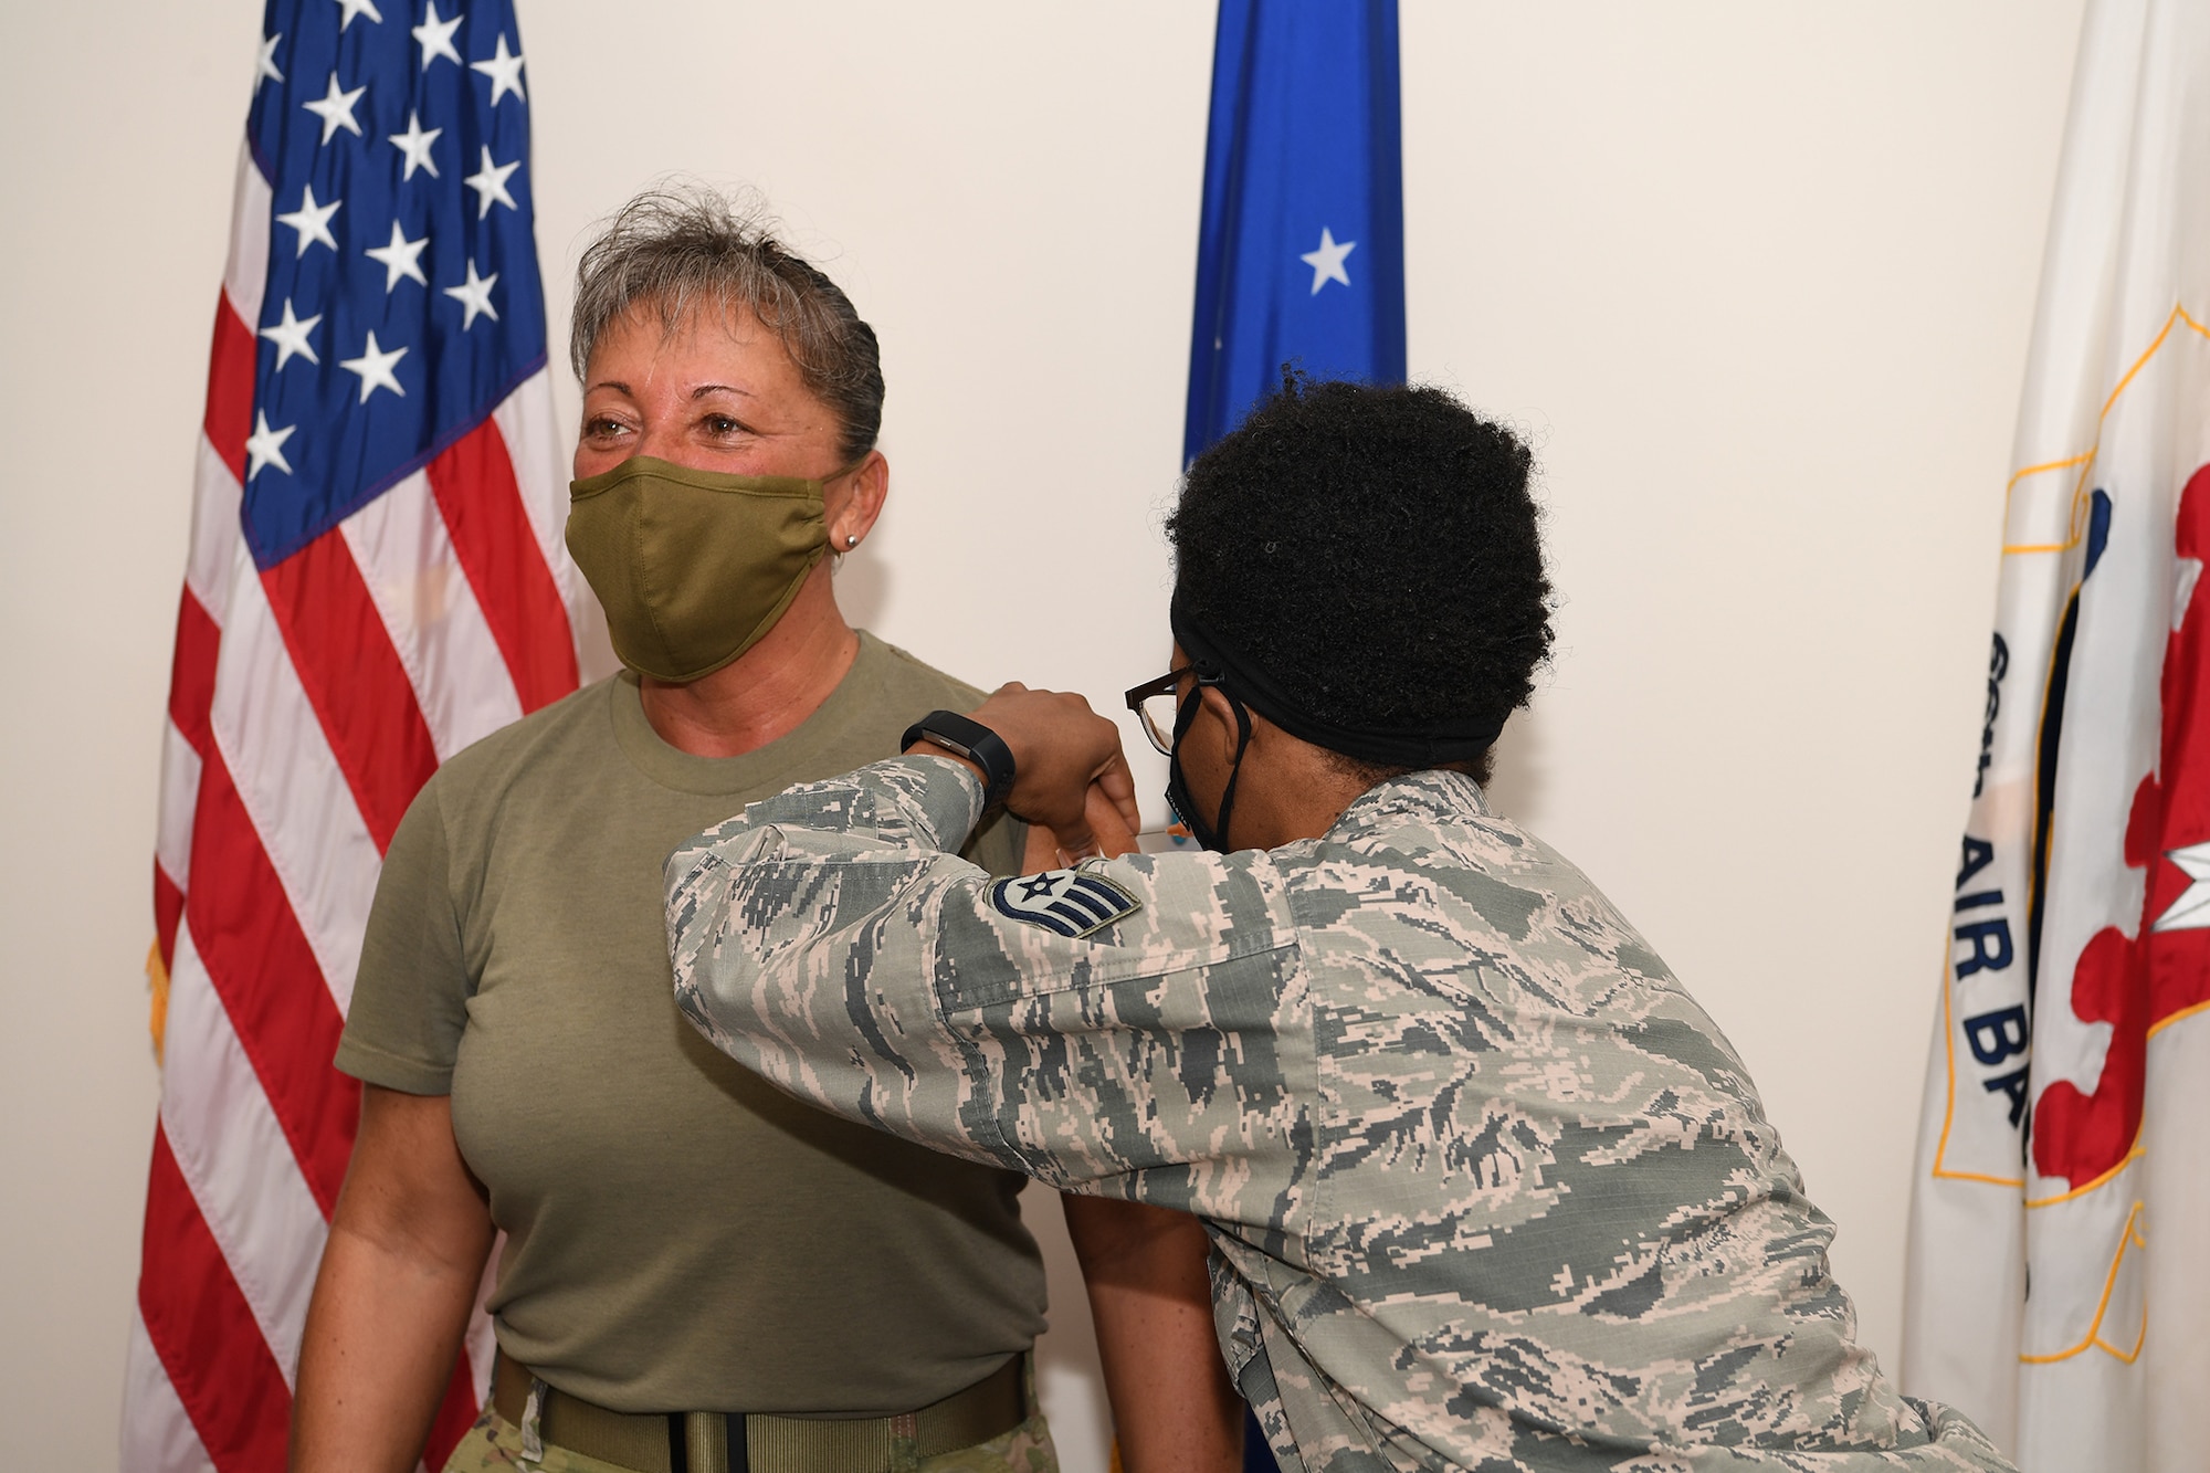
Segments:
[[[897,759],[678,849],[683,1013],[835,1115],[1063,1190],[1280,1228],[1315,1066],[1273,863],[992,880],[946,854],[979,803],[957,763]]]

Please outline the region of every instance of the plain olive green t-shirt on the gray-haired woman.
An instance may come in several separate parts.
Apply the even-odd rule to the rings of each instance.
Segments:
[[[661,865],[793,783],[897,752],[981,692],[860,635],[835,692],[745,756],[690,756],[630,675],[460,752],[385,856],[338,1068],[453,1097],[508,1241],[506,1356],[619,1411],[886,1415],[1043,1329],[1021,1177],[791,1101],[674,1006]],[[1012,874],[1019,823],[970,856]]]

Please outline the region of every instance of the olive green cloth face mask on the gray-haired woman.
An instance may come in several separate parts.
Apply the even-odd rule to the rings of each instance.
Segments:
[[[829,551],[822,482],[630,456],[568,484],[568,551],[621,664],[712,675],[760,641]]]

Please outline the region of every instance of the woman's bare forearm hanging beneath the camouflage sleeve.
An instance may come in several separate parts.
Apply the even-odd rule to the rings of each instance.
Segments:
[[[1235,1473],[1242,1400],[1213,1336],[1204,1228],[1187,1212],[1065,1197],[1127,1473]]]

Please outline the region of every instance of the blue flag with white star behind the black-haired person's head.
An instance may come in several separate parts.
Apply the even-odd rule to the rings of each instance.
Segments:
[[[1403,383],[1397,0],[1220,0],[1182,460],[1297,363]]]

